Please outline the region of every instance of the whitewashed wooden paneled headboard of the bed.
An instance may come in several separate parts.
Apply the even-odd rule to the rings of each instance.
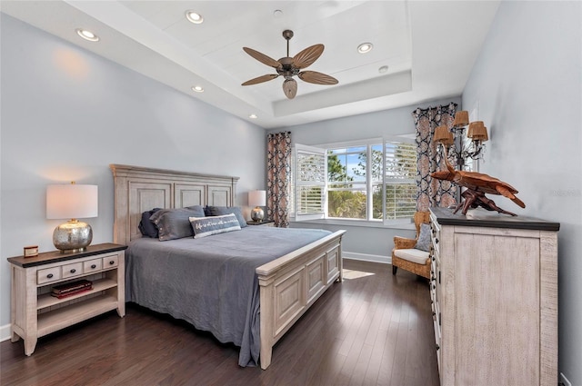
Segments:
[[[114,242],[142,237],[142,213],[153,208],[236,205],[238,177],[110,164],[115,187]]]

